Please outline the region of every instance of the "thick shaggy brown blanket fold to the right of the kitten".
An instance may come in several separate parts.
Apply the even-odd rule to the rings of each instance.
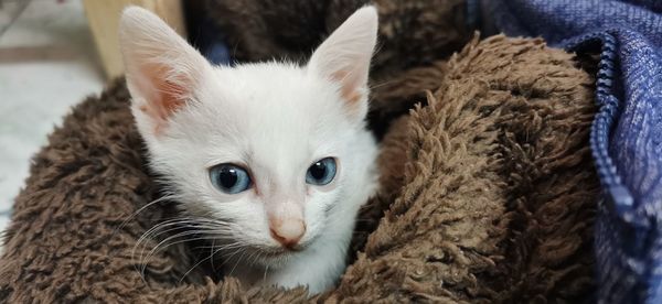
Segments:
[[[540,40],[498,36],[448,63],[428,106],[408,118],[405,144],[385,141],[391,160],[402,159],[391,149],[406,146],[404,178],[383,177],[403,186],[381,204],[393,202],[341,294],[590,300],[599,193],[587,144],[592,82],[569,57]]]

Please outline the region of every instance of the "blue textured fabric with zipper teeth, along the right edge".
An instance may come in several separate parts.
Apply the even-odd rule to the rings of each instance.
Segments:
[[[600,303],[662,303],[662,1],[469,0],[508,35],[600,54],[590,145]],[[478,4],[477,4],[478,3]],[[476,10],[469,10],[476,11]]]

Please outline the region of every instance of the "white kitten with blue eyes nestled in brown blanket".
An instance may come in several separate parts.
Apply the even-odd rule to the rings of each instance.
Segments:
[[[376,187],[364,122],[376,31],[365,7],[305,67],[223,67],[154,14],[124,11],[127,84],[150,165],[214,239],[226,273],[317,293],[344,271],[357,210]]]

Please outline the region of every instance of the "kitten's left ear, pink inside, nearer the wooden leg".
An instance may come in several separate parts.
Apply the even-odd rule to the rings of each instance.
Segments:
[[[156,134],[191,100],[211,65],[161,19],[141,8],[124,10],[119,41],[136,119]]]

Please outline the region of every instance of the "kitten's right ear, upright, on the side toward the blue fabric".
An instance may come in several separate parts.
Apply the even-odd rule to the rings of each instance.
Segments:
[[[342,98],[353,109],[365,109],[370,61],[376,40],[376,9],[359,9],[314,51],[308,68],[340,84]]]

